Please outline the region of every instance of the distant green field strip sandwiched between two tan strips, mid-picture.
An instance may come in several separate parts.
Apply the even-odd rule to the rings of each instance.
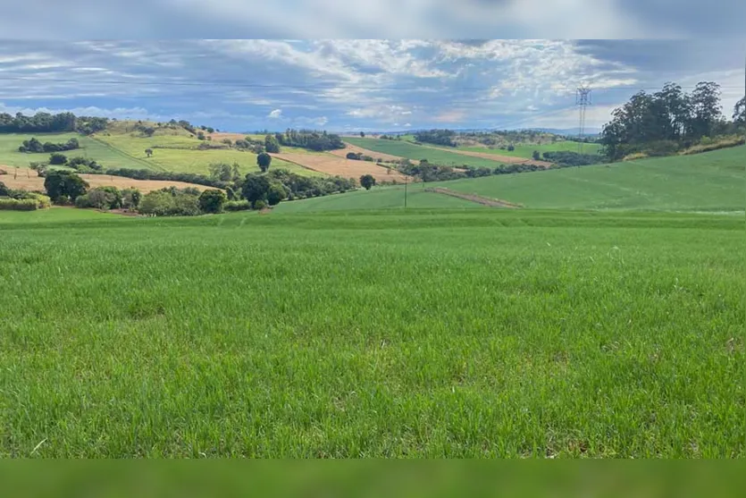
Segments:
[[[381,139],[361,139],[355,137],[345,137],[346,142],[356,145],[357,147],[367,148],[374,152],[390,154],[392,156],[407,157],[415,161],[427,159],[433,164],[444,166],[461,166],[470,165],[474,167],[484,166],[496,168],[502,165],[499,161],[483,159],[482,157],[465,156],[457,152],[448,152],[438,148],[419,146],[406,140],[381,140]]]

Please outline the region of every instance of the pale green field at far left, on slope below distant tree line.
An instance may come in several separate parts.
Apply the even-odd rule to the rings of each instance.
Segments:
[[[28,168],[31,162],[45,162],[49,154],[24,154],[18,151],[23,140],[36,137],[42,142],[66,142],[75,138],[80,142],[80,149],[69,150],[63,154],[68,157],[84,156],[96,159],[106,168],[152,169],[142,159],[128,156],[121,150],[108,147],[99,140],[84,137],[78,133],[0,133],[0,165]]]

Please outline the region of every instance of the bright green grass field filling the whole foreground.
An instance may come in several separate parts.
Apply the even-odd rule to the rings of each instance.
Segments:
[[[48,213],[0,456],[744,456],[741,218]]]

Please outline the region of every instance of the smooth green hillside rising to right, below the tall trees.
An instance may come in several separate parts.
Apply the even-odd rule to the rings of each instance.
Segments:
[[[746,147],[739,147],[693,156],[441,181],[427,187],[504,199],[527,208],[742,212],[746,203],[744,167]],[[409,186],[408,207],[418,207],[412,196],[422,189],[422,184]],[[289,202],[280,209],[299,212],[403,207],[403,194],[403,187],[383,187]],[[436,200],[437,196],[446,198],[436,193],[424,194],[428,194],[426,207],[452,201],[457,205],[449,207],[471,204],[456,198]]]

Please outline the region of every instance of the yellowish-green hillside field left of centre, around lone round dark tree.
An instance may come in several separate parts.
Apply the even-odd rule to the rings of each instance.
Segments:
[[[156,135],[151,138],[141,138],[129,134],[117,134],[100,136],[97,139],[112,148],[137,158],[139,161],[145,162],[150,165],[150,169],[209,174],[208,166],[211,163],[228,163],[231,165],[238,163],[241,173],[259,172],[259,167],[256,165],[256,154],[233,148],[197,150],[195,148],[199,145],[199,140],[183,135]],[[154,148],[154,146],[167,148]],[[152,157],[147,158],[146,148],[153,148]],[[287,169],[304,176],[323,176],[323,173],[308,170],[276,157],[272,159],[271,167]]]

